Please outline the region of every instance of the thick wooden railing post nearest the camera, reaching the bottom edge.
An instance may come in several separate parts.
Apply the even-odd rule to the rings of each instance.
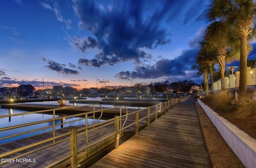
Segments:
[[[70,158],[70,167],[76,168],[77,166],[77,137],[76,137],[76,128],[71,128],[70,131],[72,134],[70,135],[70,154],[72,154]]]

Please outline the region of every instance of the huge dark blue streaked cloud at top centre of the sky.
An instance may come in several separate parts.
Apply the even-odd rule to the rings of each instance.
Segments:
[[[80,19],[79,28],[92,35],[74,37],[70,45],[82,52],[89,48],[98,49],[99,53],[94,59],[79,60],[82,65],[95,67],[124,61],[140,63],[141,60],[151,59],[151,55],[143,49],[154,49],[170,43],[170,21],[176,19],[180,8],[189,4],[189,1],[180,3],[178,0],[162,0],[161,3],[148,3],[147,0],[73,2],[74,11]],[[88,45],[88,38],[96,43]]]

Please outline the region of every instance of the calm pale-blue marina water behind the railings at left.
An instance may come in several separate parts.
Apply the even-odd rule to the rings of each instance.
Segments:
[[[87,100],[101,100],[101,98],[87,98]],[[22,104],[53,104],[53,105],[58,105],[58,101],[52,101],[52,102],[27,102],[27,103],[22,103]],[[66,101],[66,105],[86,105],[86,104],[70,104],[69,101]],[[114,105],[102,105],[103,107],[114,107]],[[138,108],[138,107],[129,107],[129,108]],[[142,107],[140,107],[140,109],[142,109]],[[2,109],[0,108],[0,115],[8,115],[8,114],[15,114],[15,113],[24,113],[24,112],[28,112],[28,111],[23,111],[23,110],[18,110],[18,109]],[[55,118],[58,118],[59,116],[56,115]],[[28,115],[18,115],[18,116],[12,116],[12,117],[4,117],[4,118],[0,118],[0,128],[4,128],[4,127],[10,127],[10,126],[14,126],[14,125],[20,125],[20,124],[24,124],[24,123],[31,123],[31,122],[36,122],[36,121],[42,121],[42,120],[46,120],[46,119],[52,119],[52,115],[48,115],[48,114],[28,114]],[[72,121],[78,119],[77,117],[72,117],[72,118],[68,118],[65,119],[63,121],[63,123],[66,123],[68,121]],[[90,119],[89,119],[90,120]],[[92,120],[89,121],[89,125],[92,124]],[[60,123],[60,120],[55,121],[56,124]],[[48,122],[48,123],[41,123],[41,124],[37,124],[37,125],[31,125],[31,126],[27,126],[27,127],[22,127],[22,128],[17,128],[17,129],[12,129],[12,130],[8,130],[8,131],[1,131],[0,132],[0,138],[1,137],[6,137],[8,135],[13,135],[13,134],[17,134],[17,133],[21,133],[24,132],[24,130],[26,131],[30,131],[33,129],[38,129],[38,128],[42,128],[42,127],[48,127],[50,125],[52,125],[52,122]],[[73,123],[68,123],[68,124],[64,124],[63,127],[69,127],[72,125],[85,125],[85,120],[80,120],[80,121],[76,121]],[[60,126],[56,127],[56,129],[60,129]],[[40,131],[36,131],[36,132],[32,132],[32,133],[27,133],[24,135],[20,135],[20,136],[16,136],[16,137],[12,137],[9,139],[3,139],[0,140],[0,144],[3,143],[8,143],[11,141],[16,141],[18,139],[23,139],[26,137],[31,137],[34,135],[38,135],[41,133],[46,133],[52,131],[52,128],[48,128],[48,129],[44,129],[44,130],[40,130]]]

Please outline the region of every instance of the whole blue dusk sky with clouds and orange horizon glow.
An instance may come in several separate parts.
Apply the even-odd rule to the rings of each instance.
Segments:
[[[192,69],[207,0],[1,0],[0,87],[178,82]]]

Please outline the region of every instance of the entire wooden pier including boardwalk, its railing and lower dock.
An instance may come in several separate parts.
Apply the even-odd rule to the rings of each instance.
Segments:
[[[36,159],[33,163],[9,162],[0,167],[89,167],[113,149],[92,167],[102,167],[104,164],[106,167],[111,167],[111,164],[114,167],[209,167],[192,101],[192,98],[188,98],[177,105],[172,100],[161,103],[160,106],[133,109],[134,111],[121,113],[94,125],[67,127],[0,145],[1,158]],[[72,117],[85,115],[87,118],[93,113],[95,111]]]

